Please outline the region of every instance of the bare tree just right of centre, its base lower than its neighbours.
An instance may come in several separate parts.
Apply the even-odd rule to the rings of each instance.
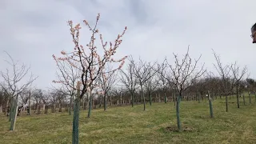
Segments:
[[[139,58],[139,62],[135,63],[132,62],[134,65],[134,74],[136,78],[138,78],[138,84],[141,88],[141,94],[142,94],[142,101],[144,105],[144,110],[146,110],[146,100],[145,100],[145,94],[144,94],[144,89],[143,86],[145,86],[146,82],[154,76],[156,71],[152,69],[154,66],[151,65],[150,62],[143,62],[141,58]]]

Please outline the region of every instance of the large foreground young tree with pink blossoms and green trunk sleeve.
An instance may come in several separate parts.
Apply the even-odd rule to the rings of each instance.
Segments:
[[[122,65],[125,62],[126,57],[119,59],[118,61],[115,61],[113,56],[116,53],[116,50],[118,49],[118,46],[122,43],[122,36],[126,32],[125,30],[122,32],[122,34],[118,34],[118,38],[115,39],[114,43],[110,42],[109,47],[107,47],[108,42],[104,42],[102,38],[102,34],[99,35],[99,38],[102,42],[102,49],[103,54],[102,56],[98,53],[98,46],[96,46],[96,35],[99,33],[99,30],[97,29],[98,20],[99,20],[100,14],[97,16],[97,20],[95,23],[95,26],[92,27],[89,25],[89,23],[84,20],[83,22],[88,26],[91,37],[90,42],[86,46],[82,46],[79,41],[79,35],[81,26],[78,23],[74,26],[72,21],[69,21],[68,24],[70,26],[70,34],[72,36],[73,42],[74,42],[74,50],[71,52],[62,51],[63,58],[57,58],[55,55],[53,55],[53,58],[57,65],[59,65],[59,61],[66,62],[66,65],[73,66],[73,69],[76,69],[79,71],[79,82],[77,87],[70,85],[70,82],[66,77],[68,77],[68,74],[64,74],[63,77],[64,80],[62,81],[54,81],[54,82],[60,82],[67,86],[70,86],[70,88],[74,90],[78,90],[78,96],[74,100],[74,119],[73,119],[73,143],[78,143],[78,119],[79,119],[79,103],[84,94],[87,92],[92,93],[92,90],[95,86],[95,80],[103,73],[102,70],[106,66],[106,63],[108,62],[121,62],[118,69],[122,67]],[[60,69],[58,69],[60,70]],[[116,69],[117,70],[117,69]],[[60,70],[62,71],[62,70]],[[106,73],[106,71],[104,71]],[[80,83],[81,82],[81,83]],[[81,84],[81,86],[80,86]]]

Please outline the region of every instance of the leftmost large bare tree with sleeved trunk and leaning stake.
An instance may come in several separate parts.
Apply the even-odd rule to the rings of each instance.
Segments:
[[[11,66],[11,70],[6,69],[6,72],[0,72],[0,75],[4,80],[4,82],[0,82],[0,86],[2,86],[3,90],[5,90],[10,96],[10,130],[14,130],[17,115],[18,95],[21,94],[23,90],[26,90],[26,88],[31,86],[32,82],[34,82],[34,80],[38,77],[34,77],[34,75],[31,73],[30,77],[25,82],[25,78],[30,71],[30,66],[26,66],[24,63],[20,65],[18,62],[14,62],[14,59],[10,56],[10,54],[8,54],[6,51],[5,53],[10,58],[10,61],[6,60],[6,62]]]

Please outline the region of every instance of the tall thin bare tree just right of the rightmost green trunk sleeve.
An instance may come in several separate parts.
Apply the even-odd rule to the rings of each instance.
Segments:
[[[213,50],[214,51],[214,50]],[[217,64],[214,64],[215,69],[218,71],[218,74],[221,77],[221,85],[219,86],[219,90],[225,95],[226,98],[226,112],[228,112],[228,101],[227,96],[233,93],[234,89],[234,78],[232,78],[231,74],[231,67],[232,64],[223,66],[221,59],[219,56],[214,52],[214,57],[216,59]]]

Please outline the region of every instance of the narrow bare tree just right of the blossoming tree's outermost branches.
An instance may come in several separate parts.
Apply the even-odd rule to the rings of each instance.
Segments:
[[[120,70],[120,81],[129,90],[131,95],[131,106],[134,107],[134,92],[135,88],[138,85],[138,78],[136,78],[135,71],[134,71],[134,60],[132,57],[129,58],[130,63],[126,68],[126,72],[124,70]]]

